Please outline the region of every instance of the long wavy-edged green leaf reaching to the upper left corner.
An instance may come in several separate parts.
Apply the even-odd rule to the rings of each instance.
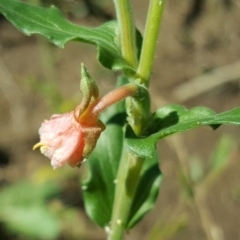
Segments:
[[[55,7],[36,7],[16,0],[1,0],[0,12],[26,35],[41,34],[59,47],[69,41],[96,45],[97,58],[104,67],[133,71],[121,55],[116,22],[97,28],[80,27],[66,20]]]

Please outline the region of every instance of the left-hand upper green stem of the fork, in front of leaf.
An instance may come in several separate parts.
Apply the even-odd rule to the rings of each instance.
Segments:
[[[136,31],[129,0],[114,0],[124,59],[133,68],[137,67]]]

